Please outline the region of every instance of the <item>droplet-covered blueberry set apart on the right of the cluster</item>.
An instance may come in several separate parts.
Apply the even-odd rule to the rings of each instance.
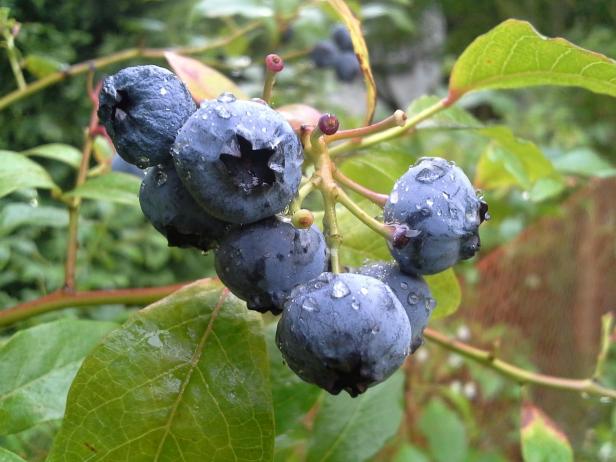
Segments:
[[[435,274],[479,250],[481,202],[464,172],[441,158],[422,158],[402,175],[384,207],[388,224],[406,225],[412,236],[389,245],[400,268]]]

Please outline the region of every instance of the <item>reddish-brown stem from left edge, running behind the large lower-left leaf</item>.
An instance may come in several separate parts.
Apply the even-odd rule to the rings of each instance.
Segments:
[[[115,290],[89,290],[73,292],[58,290],[30,302],[21,303],[0,311],[0,327],[23,321],[38,314],[63,308],[81,308],[110,303],[124,305],[149,305],[181,289],[189,282],[163,287]]]

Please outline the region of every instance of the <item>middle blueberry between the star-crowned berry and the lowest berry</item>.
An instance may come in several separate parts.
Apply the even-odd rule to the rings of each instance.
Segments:
[[[296,229],[272,217],[230,232],[215,253],[216,273],[248,308],[279,314],[293,287],[327,269],[328,251],[316,226]]]

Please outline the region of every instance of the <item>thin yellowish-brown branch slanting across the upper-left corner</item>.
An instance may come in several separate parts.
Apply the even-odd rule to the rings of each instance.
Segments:
[[[196,47],[177,47],[177,48],[129,48],[128,50],[119,51],[117,53],[113,53],[108,56],[103,56],[98,59],[92,59],[88,61],[84,61],[79,64],[74,64],[70,66],[68,69],[63,71],[54,72],[53,74],[49,74],[42,79],[36,80],[30,84],[28,84],[23,89],[15,90],[2,98],[0,98],[0,111],[10,106],[11,104],[19,101],[27,96],[33,95],[47,87],[55,85],[56,83],[68,78],[73,77],[80,74],[85,74],[88,71],[92,71],[94,69],[101,69],[112,64],[117,64],[123,61],[128,61],[133,58],[164,58],[165,53],[168,51],[172,51],[174,53],[183,54],[183,55],[194,55],[199,53],[204,53],[206,51],[223,47],[238,37],[241,37],[251,30],[257,28],[261,23],[259,21],[253,21],[246,26],[237,29],[233,33],[227,35],[224,38],[219,40],[215,40],[207,45],[196,46]]]

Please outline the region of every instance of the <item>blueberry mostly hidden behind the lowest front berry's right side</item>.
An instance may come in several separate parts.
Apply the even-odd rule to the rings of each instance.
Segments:
[[[395,263],[369,263],[356,273],[384,282],[398,297],[411,323],[411,354],[414,353],[423,344],[423,331],[436,306],[426,281],[421,276],[404,274]]]

